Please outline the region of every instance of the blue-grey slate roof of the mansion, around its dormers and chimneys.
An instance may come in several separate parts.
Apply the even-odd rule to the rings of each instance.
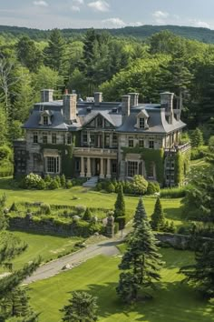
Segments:
[[[49,111],[51,115],[52,125],[40,125],[41,114]],[[142,111],[148,115],[148,129],[136,128],[137,116]],[[118,102],[102,102],[95,105],[93,102],[77,102],[77,122],[66,124],[63,120],[63,101],[54,101],[47,103],[39,103],[34,105],[34,109],[24,124],[25,129],[42,129],[57,131],[77,131],[92,121],[98,115],[103,116],[108,122],[116,128],[118,133],[142,133],[142,134],[166,134],[175,129],[186,126],[182,121],[177,121],[174,117],[170,125],[166,121],[165,109],[160,108],[160,104],[140,104],[131,107],[131,114],[127,116],[122,124],[122,103]]]

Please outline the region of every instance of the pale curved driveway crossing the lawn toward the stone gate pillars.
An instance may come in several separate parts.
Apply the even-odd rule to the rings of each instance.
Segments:
[[[96,257],[98,255],[113,256],[120,254],[120,251],[116,247],[122,241],[123,238],[113,238],[105,241],[100,241],[83,248],[71,255],[55,259],[41,267],[39,267],[31,277],[24,280],[24,284],[30,284],[41,279],[53,277],[59,273],[62,273],[62,268],[69,264],[72,267],[76,267],[83,263],[85,260]]]

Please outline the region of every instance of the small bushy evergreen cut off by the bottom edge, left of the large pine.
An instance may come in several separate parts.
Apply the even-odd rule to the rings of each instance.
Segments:
[[[69,305],[63,307],[64,322],[93,322],[97,320],[97,297],[86,292],[73,292]]]

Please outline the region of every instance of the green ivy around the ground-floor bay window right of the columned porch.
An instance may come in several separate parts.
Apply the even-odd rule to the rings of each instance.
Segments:
[[[154,162],[156,167],[157,180],[160,184],[163,184],[164,179],[164,151],[162,148],[158,150],[146,148],[146,147],[122,147],[123,156],[129,153],[135,153],[141,155],[141,159],[145,162],[146,172],[149,172],[151,162]]]

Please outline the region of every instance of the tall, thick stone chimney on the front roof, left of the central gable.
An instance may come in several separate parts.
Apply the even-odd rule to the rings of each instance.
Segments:
[[[77,95],[68,94],[66,91],[63,95],[63,119],[65,122],[76,120],[76,103]]]

